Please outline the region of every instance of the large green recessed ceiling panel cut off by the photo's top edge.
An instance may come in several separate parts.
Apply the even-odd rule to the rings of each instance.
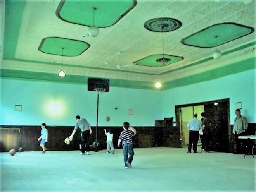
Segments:
[[[66,22],[93,26],[92,7],[96,7],[94,25],[109,27],[125,16],[136,3],[136,0],[83,0],[80,3],[75,0],[65,0],[60,2],[56,15]]]

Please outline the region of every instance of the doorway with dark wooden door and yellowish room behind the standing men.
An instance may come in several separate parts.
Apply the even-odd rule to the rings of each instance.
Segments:
[[[229,130],[230,130],[230,112],[229,99],[215,101],[206,101],[202,103],[191,103],[185,105],[176,105],[176,123],[180,127],[182,146],[187,147],[189,142],[189,129],[187,124],[193,118],[193,114],[198,114],[201,119],[201,113],[206,113],[209,124],[209,146],[211,151],[229,152]],[[201,141],[199,139],[199,145]]]

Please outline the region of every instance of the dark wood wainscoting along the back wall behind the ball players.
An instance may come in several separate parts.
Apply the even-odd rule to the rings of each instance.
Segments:
[[[21,146],[24,151],[39,151],[41,150],[38,141],[40,137],[40,126],[0,126],[8,128],[21,128]],[[173,127],[134,127],[137,130],[137,135],[133,139],[135,148],[142,147],[179,147],[177,142],[179,141],[179,135],[177,134],[176,128]],[[64,143],[64,139],[71,135],[74,127],[73,126],[47,126],[49,136],[48,143],[46,144],[47,150],[78,150],[81,142],[80,131],[73,137],[73,141],[70,145]],[[98,128],[98,149],[106,149],[106,135],[104,129],[109,131],[112,130],[114,137],[114,147],[117,147],[117,142],[120,133],[123,131],[122,127],[99,127]],[[90,144],[95,141],[95,127],[92,127],[92,134],[90,135]],[[164,136],[163,136],[164,135]]]

